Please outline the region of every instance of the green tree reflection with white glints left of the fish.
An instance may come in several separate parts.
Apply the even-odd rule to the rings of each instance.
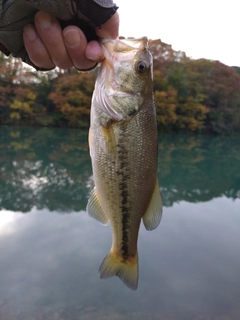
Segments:
[[[85,209],[92,188],[87,132],[1,128],[0,208]]]

